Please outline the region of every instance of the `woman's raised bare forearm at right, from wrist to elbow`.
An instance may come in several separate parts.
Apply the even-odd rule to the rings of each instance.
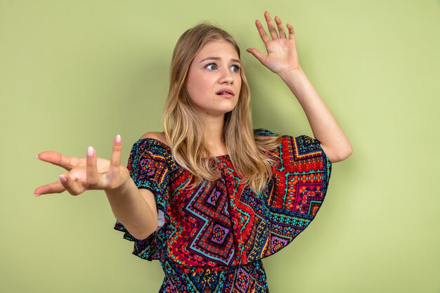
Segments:
[[[353,151],[349,139],[302,68],[280,74],[280,77],[297,97],[309,120],[313,135],[321,142],[330,161],[338,162],[349,157]]]

